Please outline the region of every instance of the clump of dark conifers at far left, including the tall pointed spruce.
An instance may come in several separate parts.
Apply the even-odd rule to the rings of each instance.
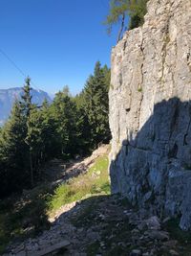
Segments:
[[[27,78],[22,100],[15,102],[11,117],[1,130],[1,198],[33,186],[34,176],[45,158],[43,152],[47,150],[45,147],[49,139],[48,134],[44,134],[47,128],[44,122],[45,105],[42,110],[32,105],[31,89],[30,79]]]

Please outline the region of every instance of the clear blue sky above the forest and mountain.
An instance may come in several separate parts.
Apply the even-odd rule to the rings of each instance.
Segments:
[[[0,50],[37,88],[54,93],[66,84],[73,94],[94,72],[110,66],[117,32],[102,25],[109,0],[0,0]],[[0,52],[0,88],[22,86],[24,77]]]

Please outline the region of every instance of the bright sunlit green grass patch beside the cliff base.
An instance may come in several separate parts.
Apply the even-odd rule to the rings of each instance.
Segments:
[[[66,203],[95,194],[109,195],[108,156],[99,156],[95,164],[85,175],[74,177],[69,182],[59,185],[49,201],[49,215]]]

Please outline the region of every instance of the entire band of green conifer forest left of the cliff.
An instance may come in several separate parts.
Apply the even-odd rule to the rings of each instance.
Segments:
[[[109,84],[110,69],[97,61],[81,93],[72,96],[65,86],[52,104],[33,105],[31,80],[26,79],[22,100],[0,130],[1,198],[32,188],[45,162],[84,156],[109,142]]]

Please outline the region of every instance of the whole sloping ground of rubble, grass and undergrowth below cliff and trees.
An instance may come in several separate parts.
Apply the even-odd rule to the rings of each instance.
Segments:
[[[109,147],[86,159],[53,160],[44,184],[0,204],[4,255],[191,256],[179,220],[159,221],[110,195]]]

